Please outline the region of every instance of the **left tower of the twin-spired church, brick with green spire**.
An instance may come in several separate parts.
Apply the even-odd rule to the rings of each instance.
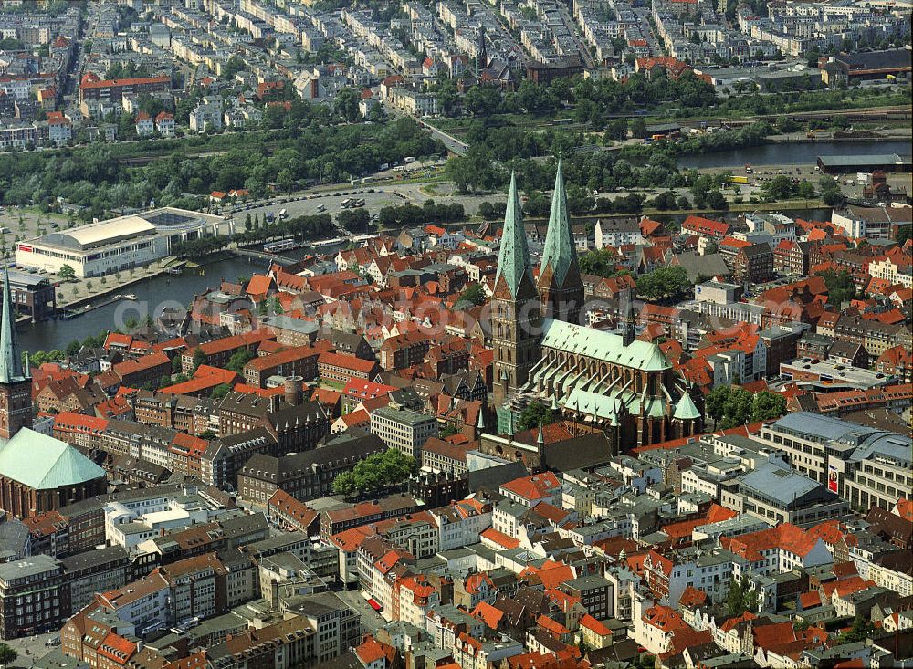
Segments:
[[[491,296],[491,340],[494,345],[494,402],[501,406],[520,388],[540,359],[539,291],[532,278],[530,249],[523,227],[517,177],[510,175],[507,212],[501,231],[498,274]]]

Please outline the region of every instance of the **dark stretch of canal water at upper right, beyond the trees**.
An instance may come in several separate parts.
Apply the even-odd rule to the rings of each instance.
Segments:
[[[681,167],[705,169],[709,167],[741,167],[750,165],[803,165],[813,164],[817,156],[863,155],[866,153],[897,153],[910,155],[909,141],[819,141],[792,144],[764,144],[746,149],[732,149],[711,153],[678,156]]]

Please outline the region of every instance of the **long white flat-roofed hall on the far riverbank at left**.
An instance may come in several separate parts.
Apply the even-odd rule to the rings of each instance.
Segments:
[[[232,232],[230,219],[162,207],[19,242],[16,263],[55,274],[68,265],[77,277],[100,277],[168,256],[173,244]]]

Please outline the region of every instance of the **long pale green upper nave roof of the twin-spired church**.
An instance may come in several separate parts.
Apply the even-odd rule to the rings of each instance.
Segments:
[[[641,371],[672,369],[666,355],[656,344],[634,340],[624,346],[621,335],[563,320],[543,320],[542,348],[562,350]]]

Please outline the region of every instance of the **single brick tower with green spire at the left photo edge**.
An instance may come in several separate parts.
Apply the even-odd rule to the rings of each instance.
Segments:
[[[16,310],[4,270],[3,314],[0,315],[0,439],[32,425],[32,382],[16,344]]]

